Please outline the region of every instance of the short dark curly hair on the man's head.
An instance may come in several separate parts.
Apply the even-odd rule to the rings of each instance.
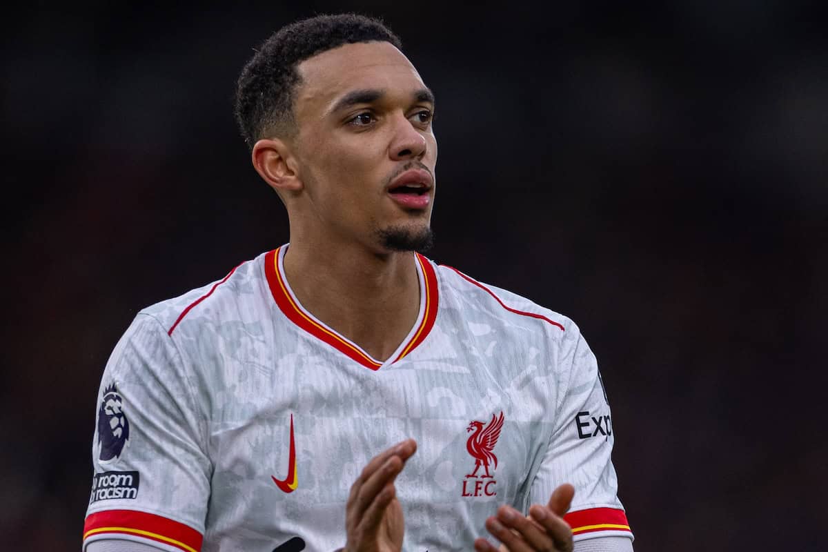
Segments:
[[[273,33],[244,65],[236,85],[234,112],[248,148],[268,134],[296,131],[293,101],[301,83],[297,65],[325,50],[372,41],[402,47],[383,22],[355,13],[310,17]]]

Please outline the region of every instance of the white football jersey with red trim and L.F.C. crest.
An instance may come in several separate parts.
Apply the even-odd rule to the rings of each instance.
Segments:
[[[632,538],[595,356],[566,317],[416,255],[420,314],[385,362],[296,300],[286,246],[137,314],[99,391],[85,545],[330,552],[370,458],[406,438],[404,550],[472,550],[563,482],[575,540]]]

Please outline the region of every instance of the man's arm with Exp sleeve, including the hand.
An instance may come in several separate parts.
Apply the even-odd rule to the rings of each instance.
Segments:
[[[565,392],[558,395],[562,400],[556,405],[555,427],[532,482],[529,516],[504,505],[486,528],[503,543],[502,551],[632,550],[633,535],[616,496],[610,460],[614,434],[609,400],[595,355],[575,324],[566,329],[551,364],[550,400],[552,389]],[[627,546],[619,548],[616,537],[627,540]],[[475,541],[475,549],[496,550],[484,539]]]

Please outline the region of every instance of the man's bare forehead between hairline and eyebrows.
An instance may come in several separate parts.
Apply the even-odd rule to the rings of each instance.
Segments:
[[[338,98],[357,89],[378,89],[410,97],[425,88],[420,74],[389,42],[346,44],[304,60],[298,65],[302,82],[296,94],[296,114],[326,111]]]

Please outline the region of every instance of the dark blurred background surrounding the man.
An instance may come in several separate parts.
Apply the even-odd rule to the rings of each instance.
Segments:
[[[825,550],[828,12],[786,0],[4,8],[4,550],[79,550],[137,310],[287,241],[234,82],[345,10],[436,92],[430,257],[595,350],[636,550]]]

